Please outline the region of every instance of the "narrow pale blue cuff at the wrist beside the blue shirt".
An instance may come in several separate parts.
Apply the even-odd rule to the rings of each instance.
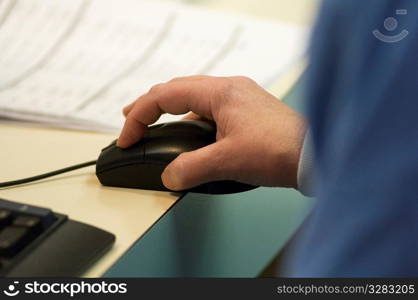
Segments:
[[[303,141],[298,166],[298,190],[305,196],[314,196],[315,188],[315,161],[312,137],[308,130]]]

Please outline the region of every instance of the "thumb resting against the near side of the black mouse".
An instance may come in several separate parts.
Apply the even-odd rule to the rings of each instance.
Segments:
[[[224,140],[180,154],[161,174],[163,184],[179,191],[225,178]]]

